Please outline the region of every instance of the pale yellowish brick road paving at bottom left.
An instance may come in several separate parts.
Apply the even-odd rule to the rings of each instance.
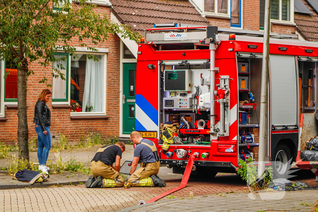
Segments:
[[[81,187],[0,190],[0,211],[118,211],[155,194]]]

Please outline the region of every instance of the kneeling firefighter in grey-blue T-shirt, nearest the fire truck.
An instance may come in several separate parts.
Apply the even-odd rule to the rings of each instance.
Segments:
[[[130,173],[127,177],[127,188],[131,187],[165,187],[166,182],[160,179],[159,155],[154,142],[143,139],[137,131],[130,134],[130,140],[136,145],[134,150],[134,160],[131,164]],[[136,170],[138,161],[140,168]]]

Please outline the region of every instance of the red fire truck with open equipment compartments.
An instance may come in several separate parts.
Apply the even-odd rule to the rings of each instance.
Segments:
[[[259,135],[263,33],[231,30],[176,23],[145,30],[137,52],[136,130],[156,143],[161,164],[173,173],[183,173],[191,154],[198,156],[192,174],[234,173],[239,159],[258,161],[264,136],[266,165],[277,177],[286,176],[290,159],[318,175],[318,162],[300,156],[318,134],[318,43],[270,34],[267,132]],[[183,145],[164,151],[160,127],[167,122],[179,123]]]

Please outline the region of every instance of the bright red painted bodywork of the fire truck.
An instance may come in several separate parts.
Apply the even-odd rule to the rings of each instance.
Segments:
[[[195,28],[205,28],[205,27],[180,27],[180,28],[153,28],[146,29],[146,31],[151,30],[176,30],[176,29],[195,29]],[[292,41],[291,41],[292,43]],[[256,49],[248,48],[248,44],[255,44],[258,47]],[[305,45],[305,44],[304,44]],[[287,51],[280,51],[278,47],[287,47]],[[313,49],[312,53],[306,53],[305,49]],[[231,49],[233,49],[231,51]],[[158,108],[158,61],[165,60],[195,60],[195,59],[209,59],[210,51],[209,50],[176,50],[176,51],[157,51],[154,47],[154,44],[139,44],[138,51],[142,54],[138,54],[137,58],[137,77],[136,77],[136,94],[142,94],[151,105],[156,109]],[[238,111],[238,71],[236,63],[236,52],[250,52],[250,53],[262,53],[263,43],[260,42],[247,42],[239,40],[223,40],[220,41],[215,53],[215,67],[219,67],[219,72],[215,73],[215,84],[218,84],[218,79],[220,75],[229,75],[230,78],[234,81],[230,82],[230,109],[236,107]],[[183,55],[185,53],[185,56]],[[294,55],[294,56],[307,56],[307,57],[318,57],[318,48],[317,47],[306,47],[306,46],[294,46],[292,44],[270,44],[269,46],[270,54],[281,54],[281,55]],[[156,68],[149,70],[147,68],[148,64],[156,65]],[[215,86],[215,90],[218,88]],[[151,92],[149,92],[151,91]],[[217,114],[215,120],[219,120],[219,104],[215,104],[215,114]],[[218,121],[216,121],[217,123]],[[218,144],[225,145],[238,145],[238,119],[230,126],[230,135],[221,137],[219,140],[212,140],[211,146],[207,145],[182,145],[183,149],[191,150],[192,153],[199,152],[200,154],[204,152],[209,152],[210,155],[206,158],[206,161],[222,161],[222,162],[232,162],[233,165],[237,166],[238,164],[238,153],[219,153],[217,151]],[[187,129],[181,129],[181,133],[193,134],[191,132],[185,132]],[[198,130],[198,129],[192,129]],[[208,129],[200,130],[200,133],[207,133]],[[272,133],[298,133],[298,130],[277,130],[272,131]],[[168,159],[162,153],[161,145],[158,145],[158,140],[156,139],[156,146],[160,152],[161,159]],[[174,151],[175,149],[180,148],[180,146],[171,145],[169,151]],[[239,149],[239,146],[237,146]],[[173,160],[180,160],[174,154],[171,158]],[[187,160],[185,158],[184,160]],[[202,160],[201,157],[196,158],[195,160]]]

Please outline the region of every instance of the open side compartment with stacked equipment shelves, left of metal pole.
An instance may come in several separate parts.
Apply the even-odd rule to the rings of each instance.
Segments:
[[[238,57],[239,158],[258,161],[262,58]],[[248,145],[247,145],[248,144]],[[268,146],[266,146],[268,148]],[[243,157],[242,156],[243,152]],[[267,150],[266,150],[267,152]]]

